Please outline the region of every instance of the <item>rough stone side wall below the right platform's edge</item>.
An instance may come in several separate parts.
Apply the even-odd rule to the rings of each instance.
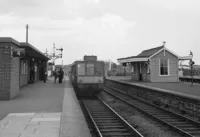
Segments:
[[[154,105],[200,120],[200,98],[183,95],[178,92],[168,92],[162,89],[140,87],[109,79],[106,80],[106,84],[122,89],[130,96],[138,97]]]

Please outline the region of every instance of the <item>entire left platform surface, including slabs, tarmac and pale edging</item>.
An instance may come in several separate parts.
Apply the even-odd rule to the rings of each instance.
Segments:
[[[50,78],[27,85],[20,94],[0,101],[0,111],[12,112],[0,119],[0,137],[91,137],[67,77],[62,84]]]

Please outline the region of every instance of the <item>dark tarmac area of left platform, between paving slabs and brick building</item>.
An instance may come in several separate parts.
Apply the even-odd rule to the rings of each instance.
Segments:
[[[9,113],[61,112],[64,87],[65,83],[54,83],[53,78],[22,87],[14,99],[0,100],[0,120]]]

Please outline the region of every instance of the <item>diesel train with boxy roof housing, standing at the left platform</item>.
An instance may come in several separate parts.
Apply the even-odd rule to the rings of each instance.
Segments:
[[[70,80],[78,97],[91,97],[102,89],[105,79],[104,62],[97,56],[84,56],[71,66]]]

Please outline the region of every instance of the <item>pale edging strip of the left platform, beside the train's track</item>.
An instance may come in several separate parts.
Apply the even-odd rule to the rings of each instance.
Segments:
[[[59,137],[91,137],[75,92],[66,81]]]

